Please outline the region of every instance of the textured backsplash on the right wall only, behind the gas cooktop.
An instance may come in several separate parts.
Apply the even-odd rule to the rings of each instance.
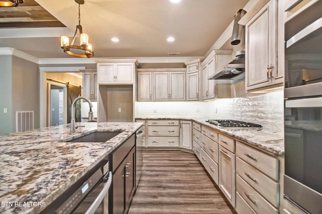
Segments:
[[[211,117],[253,122],[265,128],[283,130],[284,93],[270,92],[248,97],[210,101]]]

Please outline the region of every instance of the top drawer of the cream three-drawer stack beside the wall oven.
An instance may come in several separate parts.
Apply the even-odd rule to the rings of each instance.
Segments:
[[[277,158],[238,141],[236,142],[236,156],[264,172],[271,178],[279,180],[279,162]]]

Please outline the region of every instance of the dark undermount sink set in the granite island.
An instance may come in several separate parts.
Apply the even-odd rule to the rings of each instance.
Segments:
[[[84,135],[78,138],[74,138],[69,141],[65,142],[79,142],[79,143],[85,143],[85,142],[97,142],[97,143],[102,143],[110,140],[111,138],[117,136],[121,132],[92,132],[88,135]]]

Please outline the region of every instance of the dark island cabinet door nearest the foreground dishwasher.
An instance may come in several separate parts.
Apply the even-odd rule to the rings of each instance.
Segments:
[[[113,213],[125,212],[125,160],[113,174]]]

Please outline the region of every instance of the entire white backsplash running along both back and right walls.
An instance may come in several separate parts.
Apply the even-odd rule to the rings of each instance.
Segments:
[[[135,102],[135,117],[232,119],[253,122],[268,129],[281,131],[283,129],[283,103],[283,91],[207,102]]]

